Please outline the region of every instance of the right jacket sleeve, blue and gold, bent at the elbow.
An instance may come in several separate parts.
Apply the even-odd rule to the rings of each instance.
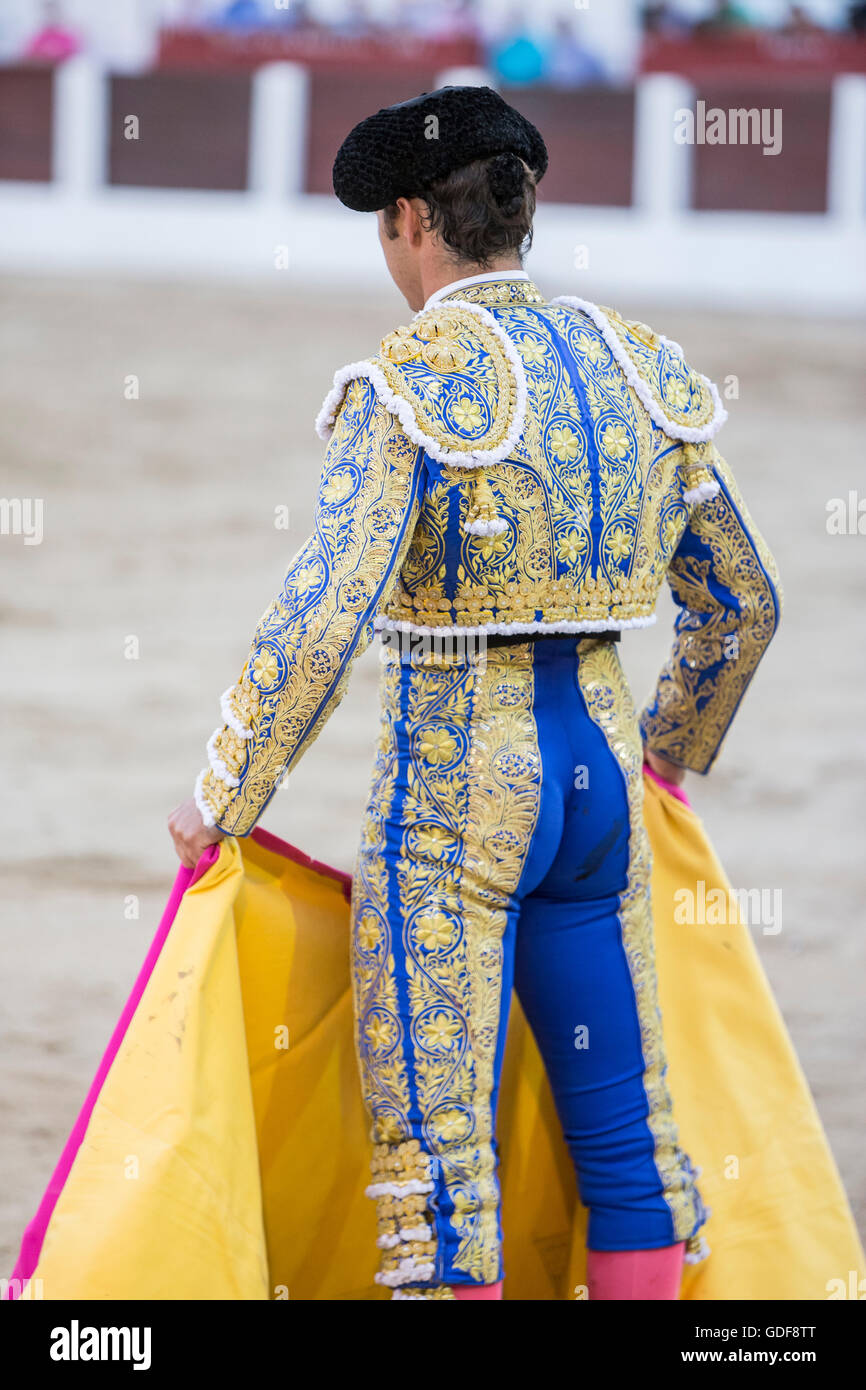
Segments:
[[[694,505],[667,580],[680,607],[674,645],[641,717],[651,752],[681,767],[712,767],[781,616],[776,562],[724,459],[703,460],[719,482]]]

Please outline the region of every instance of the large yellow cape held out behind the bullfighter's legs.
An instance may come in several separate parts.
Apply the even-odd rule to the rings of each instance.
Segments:
[[[749,930],[673,920],[677,887],[727,881],[651,781],[646,823],[669,1083],[712,1207],[683,1298],[827,1298],[863,1252]],[[345,884],[270,844],[224,841],[182,899],[49,1220],[44,1298],[389,1297]],[[585,1297],[585,1213],[516,1001],[499,1136],[505,1297]]]

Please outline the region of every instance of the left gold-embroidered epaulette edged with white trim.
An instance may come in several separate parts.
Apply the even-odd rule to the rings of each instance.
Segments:
[[[432,459],[453,468],[481,468],[513,453],[523,434],[527,381],[520,354],[489,310],[450,299],[421,310],[407,328],[382,341],[367,361],[334,377],[316,420],[322,439],[357,377]]]

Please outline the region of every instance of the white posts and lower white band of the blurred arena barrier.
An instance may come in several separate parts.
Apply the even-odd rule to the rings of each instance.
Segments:
[[[453,75],[449,75],[453,76]],[[461,81],[484,79],[461,72]],[[302,192],[309,81],[279,63],[253,78],[247,190],[108,186],[108,79],[89,58],[56,70],[50,185],[0,182],[0,270],[275,275],[381,284],[373,220]],[[694,149],[673,138],[694,106],[678,76],[638,81],[634,206],[538,213],[530,268],[552,291],[780,311],[866,309],[866,78],[838,76],[827,213],[694,211]],[[288,254],[286,254],[288,253]]]

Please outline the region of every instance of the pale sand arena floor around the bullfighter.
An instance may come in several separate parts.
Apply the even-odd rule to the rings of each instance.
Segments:
[[[719,443],[777,555],[787,612],[716,770],[688,790],[734,885],[781,890],[783,930],[756,940],[863,1220],[866,538],[828,535],[826,506],[862,485],[865,334],[617,307],[740,381]],[[165,816],[309,532],[321,398],[406,318],[392,291],[0,281],[0,495],[44,499],[40,545],[0,537],[4,1272],[174,878]],[[274,525],[284,505],[288,532]],[[626,634],[635,698],[671,610]],[[264,817],[348,869],[377,674],[371,651]]]

